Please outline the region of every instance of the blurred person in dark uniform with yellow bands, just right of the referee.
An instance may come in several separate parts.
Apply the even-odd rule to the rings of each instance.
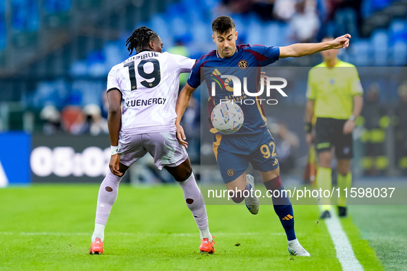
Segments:
[[[388,166],[385,150],[386,128],[390,123],[386,109],[379,103],[380,87],[377,83],[369,85],[366,102],[362,109],[364,119],[364,158],[362,166],[366,175],[382,175]]]

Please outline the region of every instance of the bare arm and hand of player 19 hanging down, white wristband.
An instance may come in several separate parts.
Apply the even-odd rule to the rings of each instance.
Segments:
[[[107,92],[109,101],[109,113],[107,114],[107,126],[109,127],[110,145],[118,146],[118,134],[121,127],[121,92],[112,90]],[[109,168],[114,175],[121,176],[123,173],[118,171],[120,157],[114,154],[110,157]]]

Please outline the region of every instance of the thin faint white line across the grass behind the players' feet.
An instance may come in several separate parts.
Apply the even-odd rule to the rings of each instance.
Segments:
[[[195,233],[145,233],[145,232],[109,232],[110,235],[142,235],[142,236],[186,236],[186,237],[196,237],[199,235],[197,232]],[[71,235],[92,235],[92,232],[0,232],[0,235],[56,235],[56,236],[71,236]],[[229,232],[217,232],[217,236],[244,236],[244,235],[260,235],[259,232],[237,232],[237,233],[229,233]],[[285,235],[284,233],[267,233],[266,235]]]

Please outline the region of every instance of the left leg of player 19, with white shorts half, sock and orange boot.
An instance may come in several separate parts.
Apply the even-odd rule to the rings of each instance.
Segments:
[[[129,166],[139,158],[142,158],[147,151],[140,145],[140,135],[121,136],[119,146],[119,154],[121,157],[119,171],[124,175]],[[120,184],[123,175],[118,177],[109,171],[101,183],[96,206],[94,233],[92,235],[92,243],[89,251],[90,254],[104,252],[103,241],[105,239],[105,226],[110,211],[112,210],[112,206],[114,202],[116,202],[118,185]]]

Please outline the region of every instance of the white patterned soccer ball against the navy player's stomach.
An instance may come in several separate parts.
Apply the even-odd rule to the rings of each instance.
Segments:
[[[244,121],[243,111],[236,103],[221,102],[213,108],[211,122],[220,133],[236,133]]]

